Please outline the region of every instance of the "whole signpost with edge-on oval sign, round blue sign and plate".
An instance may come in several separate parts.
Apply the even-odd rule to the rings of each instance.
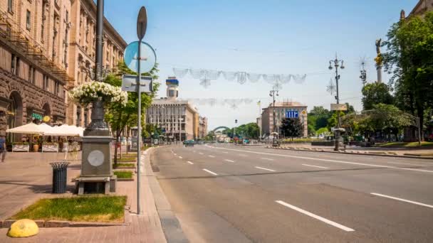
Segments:
[[[127,92],[137,92],[138,111],[137,111],[137,215],[140,210],[140,157],[141,157],[141,93],[151,93],[153,91],[152,77],[142,77],[141,74],[150,72],[155,67],[156,54],[152,46],[142,42],[147,29],[147,12],[144,6],[141,7],[137,18],[137,37],[138,41],[127,45],[124,60],[130,70],[137,72],[137,76],[124,75],[122,77],[122,90]]]

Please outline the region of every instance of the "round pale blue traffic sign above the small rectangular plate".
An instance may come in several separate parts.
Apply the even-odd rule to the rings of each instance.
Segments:
[[[127,45],[125,49],[125,54],[123,55],[123,60],[130,70],[138,72],[138,43],[139,41],[134,41]],[[140,58],[140,72],[150,72],[155,64],[157,63],[157,55],[152,46],[141,42],[141,58]]]

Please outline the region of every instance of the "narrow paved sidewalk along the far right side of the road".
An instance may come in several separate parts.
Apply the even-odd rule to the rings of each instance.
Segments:
[[[305,149],[313,151],[333,151],[333,146],[311,146],[311,144],[281,144],[281,148]],[[380,147],[358,147],[347,146],[346,153],[370,153],[370,154],[389,154],[397,156],[414,156],[433,154],[433,148],[380,148]],[[421,156],[420,156],[421,157]]]

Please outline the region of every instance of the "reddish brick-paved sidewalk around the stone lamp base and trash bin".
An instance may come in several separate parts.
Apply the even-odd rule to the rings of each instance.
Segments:
[[[68,168],[68,193],[51,194],[52,169],[49,163],[60,158],[63,158],[62,153],[8,153],[6,155],[6,163],[0,163],[0,219],[4,220],[14,215],[38,198],[73,196],[71,192],[74,183],[71,179],[79,175],[80,161],[71,163]],[[81,158],[80,154],[78,158]],[[7,229],[0,229],[0,242],[167,242],[147,176],[142,175],[140,184],[142,188],[142,215],[140,216],[135,215],[137,179],[117,184],[115,194],[127,195],[127,207],[132,212],[131,215],[125,215],[125,225],[40,228],[38,235],[24,239],[7,237]]]

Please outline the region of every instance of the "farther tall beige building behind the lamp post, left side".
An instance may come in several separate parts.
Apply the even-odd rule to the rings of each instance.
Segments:
[[[73,81],[67,83],[68,89],[93,78],[96,55],[96,4],[93,0],[71,1],[71,26],[74,28],[70,31],[68,75],[73,77]],[[127,43],[105,18],[103,38],[103,68],[110,72],[122,60]],[[73,104],[68,97],[66,103],[68,124],[87,126],[90,122],[89,107]]]

